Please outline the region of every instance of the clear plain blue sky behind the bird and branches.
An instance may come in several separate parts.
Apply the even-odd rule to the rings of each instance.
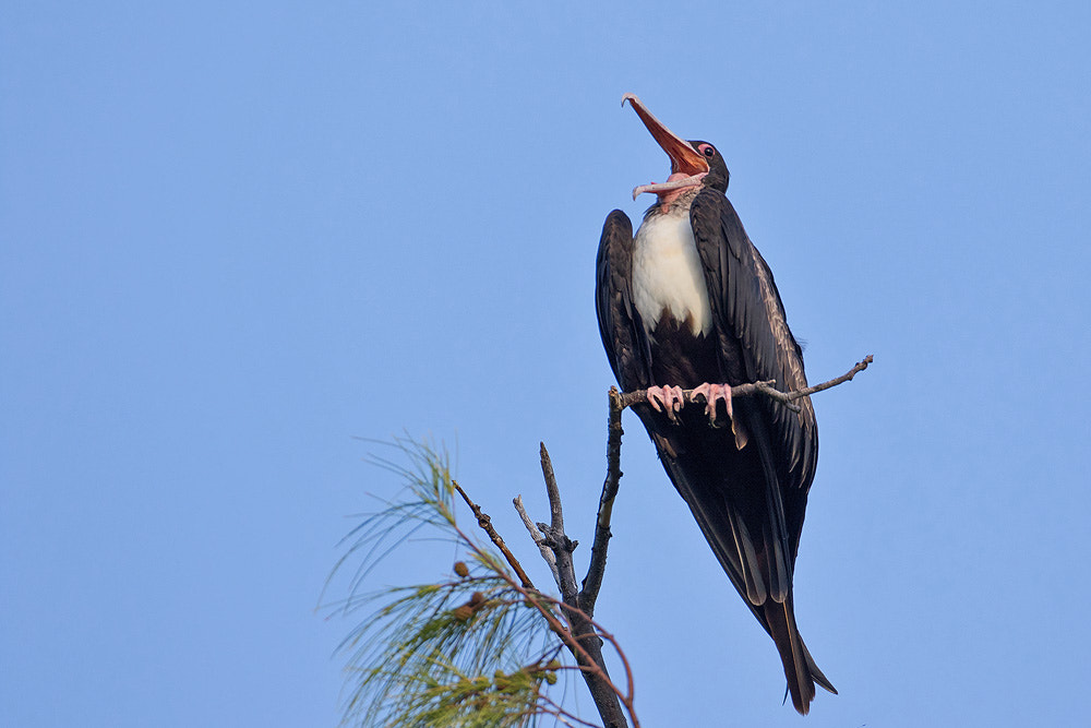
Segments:
[[[818,395],[802,719],[626,416],[597,616],[646,726],[1077,725],[1091,559],[1086,2],[0,10],[0,723],[332,726],[338,539],[431,435],[589,545],[607,213],[731,169]],[[471,522],[466,521],[467,524]],[[587,550],[577,551],[580,564]],[[413,546],[374,585],[427,580]],[[580,688],[582,690],[582,688]],[[590,702],[582,700],[590,715]]]

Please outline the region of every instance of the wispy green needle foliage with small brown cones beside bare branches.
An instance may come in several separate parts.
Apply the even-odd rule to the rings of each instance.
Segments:
[[[447,455],[427,442],[395,445],[409,467],[376,462],[407,489],[353,529],[335,569],[359,560],[339,608],[364,612],[340,647],[348,656],[346,723],[485,728],[532,726],[558,715],[543,693],[562,667],[561,642],[543,616],[555,614],[552,602],[523,588],[491,542],[458,526]],[[367,590],[375,564],[421,532],[465,552],[451,577]]]

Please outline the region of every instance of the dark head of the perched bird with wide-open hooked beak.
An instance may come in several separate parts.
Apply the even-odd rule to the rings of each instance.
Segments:
[[[657,119],[635,94],[622,96],[622,106],[625,102],[632,105],[652,138],[671,158],[671,176],[667,181],[637,187],[633,190],[634,200],[643,192],[655,192],[659,195],[658,204],[668,206],[690,190],[708,188],[728,191],[728,166],[715,146],[708,142],[684,141]]]

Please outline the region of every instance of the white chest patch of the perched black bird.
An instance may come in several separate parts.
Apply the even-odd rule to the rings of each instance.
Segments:
[[[633,305],[650,333],[666,313],[690,319],[694,335],[708,334],[712,312],[690,215],[656,215],[636,232],[633,250]]]

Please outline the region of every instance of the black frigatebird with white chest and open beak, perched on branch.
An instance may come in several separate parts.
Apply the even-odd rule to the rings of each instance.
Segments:
[[[731,399],[731,386],[807,386],[772,272],[727,198],[728,167],[702,141],[683,141],[625,94],[671,159],[666,182],[633,236],[625,213],[607,217],[596,305],[610,366],[731,583],[772,637],[792,704],[810,709],[815,683],[837,693],[795,624],[792,576],[807,491],[818,461],[808,397],[799,411],[765,396]],[[705,407],[685,406],[690,399]],[[722,415],[720,413],[723,413]]]

